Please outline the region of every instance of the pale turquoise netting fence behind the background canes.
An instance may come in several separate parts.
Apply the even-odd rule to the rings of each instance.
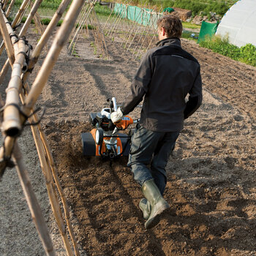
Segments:
[[[133,20],[144,26],[157,26],[157,13],[152,13],[151,9],[142,9],[140,7],[135,7],[126,4],[115,4],[114,12],[120,15],[121,18],[127,18]]]

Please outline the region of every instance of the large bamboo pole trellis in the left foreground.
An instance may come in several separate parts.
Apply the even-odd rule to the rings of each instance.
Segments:
[[[34,195],[33,188],[31,187],[28,170],[24,164],[22,152],[20,151],[17,142],[17,138],[22,135],[26,121],[29,121],[37,147],[42,173],[45,176],[45,184],[48,190],[50,205],[53,209],[53,214],[56,218],[67,255],[80,255],[69,219],[67,200],[61,189],[50,147],[42,127],[39,124],[40,118],[37,116],[37,110],[34,109],[34,106],[49,78],[54,64],[56,64],[61,49],[67,42],[84,1],[72,1],[67,14],[65,15],[64,22],[59,28],[56,37],[53,39],[53,43],[48,51],[45,61],[39,69],[34,83],[30,87],[28,83],[29,75],[33,72],[34,65],[39,59],[42,48],[45,47],[50,35],[53,34],[53,30],[56,29],[56,25],[60,20],[61,15],[63,15],[64,11],[67,9],[70,0],[63,0],[61,2],[58,10],[56,10],[55,15],[53,15],[53,18],[32,52],[31,45],[29,45],[25,36],[26,31],[31,24],[31,20],[37,13],[41,2],[42,0],[35,0],[34,2],[23,0],[12,23],[10,23],[8,18],[14,0],[12,0],[10,4],[8,0],[3,0],[0,3],[0,29],[3,39],[0,46],[0,54],[3,52],[4,48],[7,51],[7,60],[0,72],[0,83],[2,83],[3,79],[7,76],[9,67],[12,68],[10,81],[6,90],[7,94],[5,102],[3,101],[4,97],[1,97],[0,99],[1,132],[3,137],[3,145],[0,148],[0,178],[4,174],[6,167],[15,165],[20,178],[20,184],[22,185],[24,195],[26,196],[31,216],[37,227],[45,253],[46,255],[55,255],[53,242],[48,233],[48,227],[42,216],[37,197]],[[26,22],[17,34],[15,29],[20,24],[21,18],[30,6],[31,10],[26,18]],[[58,196],[61,197],[61,203],[58,200]],[[64,212],[64,216],[62,211]]]

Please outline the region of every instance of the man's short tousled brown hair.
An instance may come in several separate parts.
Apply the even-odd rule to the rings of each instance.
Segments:
[[[181,37],[182,23],[175,15],[164,15],[157,20],[158,29],[164,28],[167,37]]]

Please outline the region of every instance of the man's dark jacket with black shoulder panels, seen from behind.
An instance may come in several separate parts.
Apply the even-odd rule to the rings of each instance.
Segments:
[[[121,105],[124,115],[134,110],[143,97],[140,124],[155,132],[181,131],[184,118],[201,105],[200,64],[181,48],[180,39],[163,39],[148,50],[132,81],[131,92]]]

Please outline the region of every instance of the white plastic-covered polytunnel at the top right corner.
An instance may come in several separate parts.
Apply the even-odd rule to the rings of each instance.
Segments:
[[[256,0],[237,1],[223,16],[216,34],[238,47],[256,46]]]

